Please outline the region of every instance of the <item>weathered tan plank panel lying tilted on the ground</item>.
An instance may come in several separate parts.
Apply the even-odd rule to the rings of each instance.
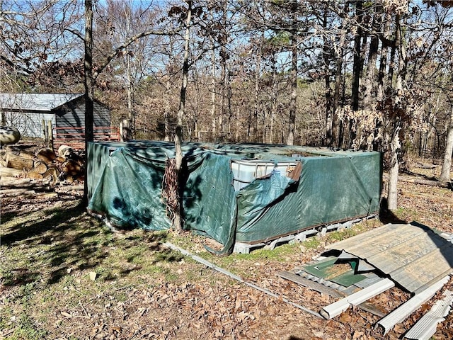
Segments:
[[[453,273],[453,244],[415,222],[384,225],[326,248],[365,259],[411,293]]]

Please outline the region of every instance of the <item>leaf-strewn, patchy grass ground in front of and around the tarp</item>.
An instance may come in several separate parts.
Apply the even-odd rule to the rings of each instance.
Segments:
[[[426,178],[439,169],[413,171]],[[50,200],[1,199],[0,339],[402,339],[431,302],[384,336],[374,329],[379,317],[360,308],[332,320],[310,314],[333,298],[276,273],[310,261],[326,244],[386,222],[416,221],[453,233],[453,191],[403,181],[396,212],[383,210],[379,219],[304,243],[223,258],[207,253],[207,240],[193,234],[110,232],[86,214],[80,198],[80,191],[66,188]],[[453,289],[452,280],[446,288]],[[392,288],[370,302],[390,312],[408,297]],[[453,339],[452,314],[432,339]]]

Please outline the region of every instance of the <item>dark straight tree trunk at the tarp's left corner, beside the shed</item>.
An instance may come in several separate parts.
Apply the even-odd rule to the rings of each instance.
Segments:
[[[85,0],[85,55],[84,55],[84,86],[85,86],[85,150],[88,143],[93,142],[93,1]],[[88,163],[88,162],[86,162]],[[88,166],[85,166],[84,205],[88,204]]]

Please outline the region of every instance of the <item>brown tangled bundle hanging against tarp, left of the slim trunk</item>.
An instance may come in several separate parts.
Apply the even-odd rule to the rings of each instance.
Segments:
[[[166,159],[161,197],[165,204],[166,215],[173,225],[179,204],[178,174],[176,172],[176,159],[174,158]]]

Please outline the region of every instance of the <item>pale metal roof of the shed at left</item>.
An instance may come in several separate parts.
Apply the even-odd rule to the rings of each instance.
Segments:
[[[50,112],[83,94],[0,94],[0,107],[11,111]]]

